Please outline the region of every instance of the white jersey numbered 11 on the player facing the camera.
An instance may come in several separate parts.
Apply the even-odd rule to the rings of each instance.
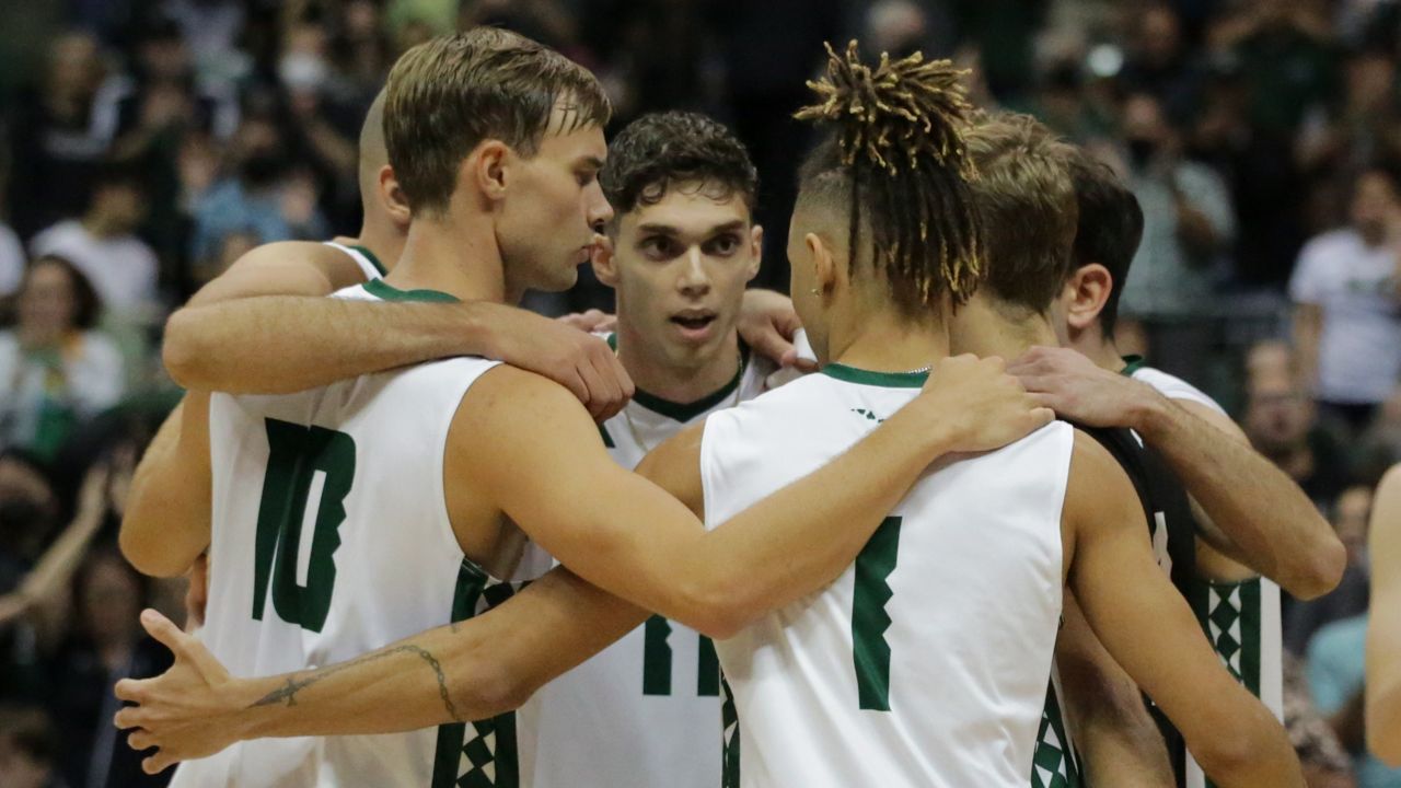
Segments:
[[[684,428],[758,397],[775,366],[745,355],[734,380],[698,402],[637,391],[600,428],[608,453],[635,468]],[[521,784],[719,788],[720,732],[720,665],[710,638],[653,616],[521,707]]]

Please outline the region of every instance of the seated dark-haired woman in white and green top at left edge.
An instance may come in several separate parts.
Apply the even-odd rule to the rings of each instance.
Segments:
[[[0,446],[50,458],[80,419],[116,404],[122,358],[92,331],[101,301],[71,262],[34,261],[20,290],[20,320],[0,332]]]

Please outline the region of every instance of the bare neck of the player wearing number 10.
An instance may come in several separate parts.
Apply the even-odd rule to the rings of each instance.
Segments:
[[[416,219],[385,282],[399,290],[439,290],[462,301],[506,303],[502,254],[490,227]]]

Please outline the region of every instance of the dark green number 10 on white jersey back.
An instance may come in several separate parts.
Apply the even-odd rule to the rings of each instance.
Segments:
[[[262,621],[269,580],[277,616],[303,630],[319,632],[331,610],[336,582],[332,557],[340,547],[345,498],[354,478],[354,440],[319,426],[277,419],[268,423],[268,471],[258,505],[258,540],[254,565],[254,618]],[[307,585],[297,583],[301,527],[311,488],[321,478],[315,501]]]

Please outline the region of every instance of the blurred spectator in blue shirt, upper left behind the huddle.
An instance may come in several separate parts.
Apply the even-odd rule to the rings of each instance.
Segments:
[[[303,171],[289,172],[283,150],[284,137],[270,119],[244,119],[230,151],[233,177],[216,182],[195,209],[193,259],[216,257],[224,236],[249,229],[263,244],[331,234],[315,186]]]

